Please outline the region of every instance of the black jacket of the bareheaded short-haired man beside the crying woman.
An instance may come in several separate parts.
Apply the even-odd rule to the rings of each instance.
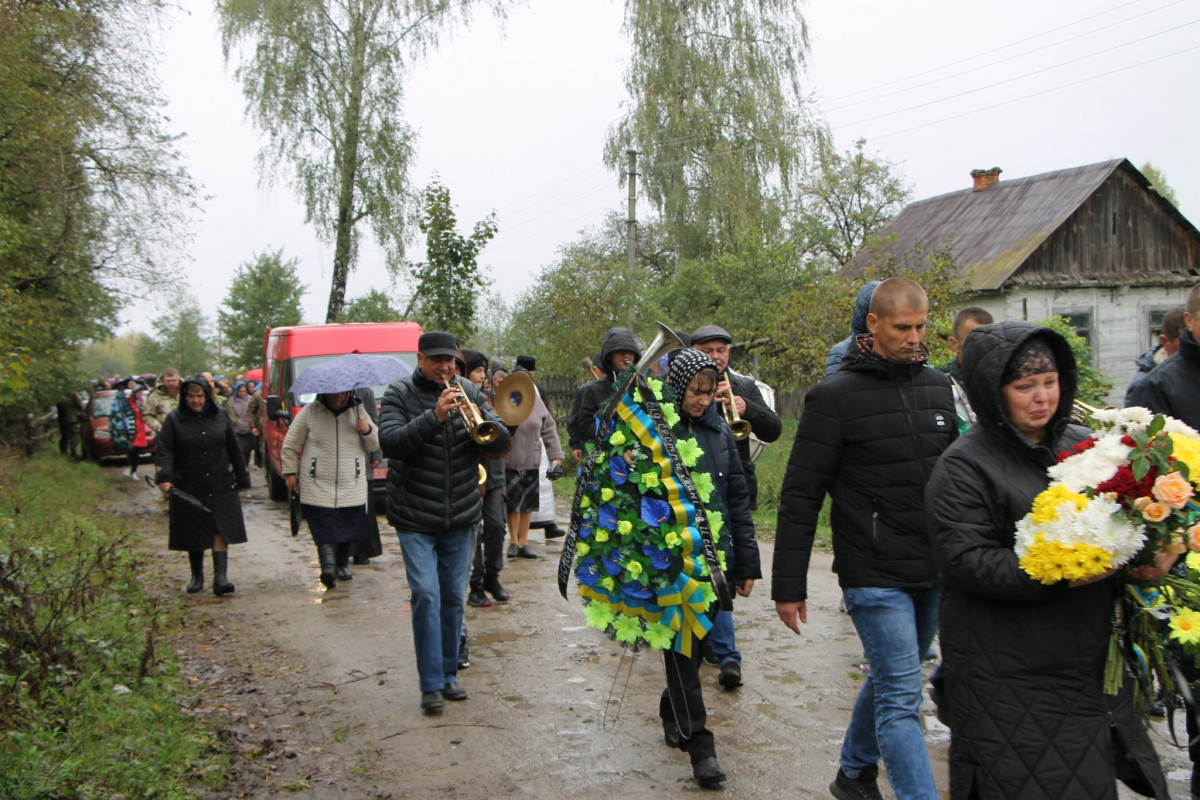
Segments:
[[[950,380],[924,359],[889,361],[871,345],[869,335],[859,336],[838,372],[804,398],[780,491],[773,600],[808,597],[827,493],[842,588],[934,585],[923,498],[934,464],[958,434]]]

